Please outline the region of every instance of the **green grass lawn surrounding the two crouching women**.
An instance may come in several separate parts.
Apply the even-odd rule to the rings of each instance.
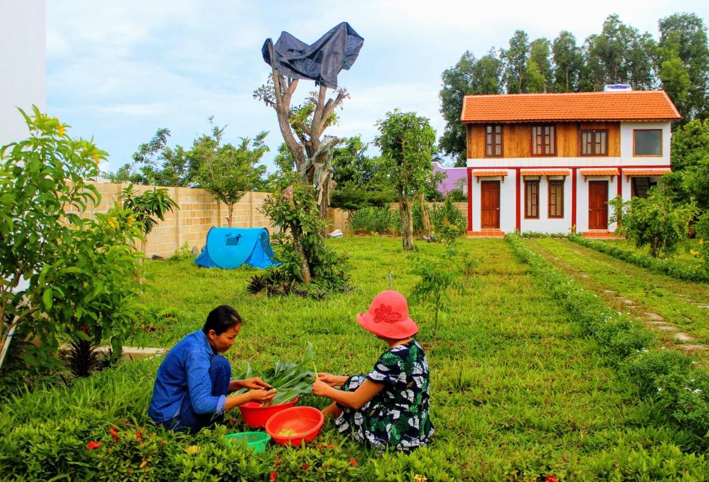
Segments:
[[[546,250],[569,250],[553,240],[542,242]],[[150,262],[155,292],[147,303],[155,310],[173,308],[175,314],[152,327],[150,344],[171,347],[201,327],[211,308],[228,303],[245,319],[235,346],[227,352],[235,368],[248,360],[258,374],[276,359],[300,357],[310,341],[318,370],[335,374],[369,371],[385,345],[364,332],[355,315],[367,310],[374,295],[387,288],[389,269],[393,288],[405,295],[417,279],[410,274],[411,262],[401,250],[401,240],[350,237],[328,243],[350,255],[354,288],[324,301],[251,296],[245,286],[257,272],[254,269],[223,271],[200,269],[191,261]],[[418,242],[417,246],[425,256],[442,253],[441,245]],[[569,322],[567,313],[542,290],[506,242],[466,239],[459,241],[459,247],[481,256],[484,263],[466,281],[467,293],[454,296],[451,312],[443,315],[437,343],[428,349],[431,417],[436,430],[430,447],[410,455],[379,455],[343,439],[330,423],[316,439],[318,445],[309,449],[272,447],[263,456],[250,456],[240,449],[224,452],[233,464],[241,464],[238,473],[253,470],[262,474],[257,480],[267,480],[269,471],[276,470],[279,481],[336,480],[333,473],[341,480],[393,481],[425,480],[414,479],[415,475],[428,481],[535,481],[549,474],[564,480],[680,478],[683,471],[688,480],[709,476],[703,456],[687,453],[701,447],[700,442],[664,424],[651,406],[637,403],[635,389],[623,374],[605,362],[582,327]],[[654,275],[643,274],[643,279],[649,276]],[[411,306],[411,313],[420,327],[418,340],[431,344],[432,313],[418,306]],[[67,452],[73,453],[74,447],[79,455],[86,452],[83,446],[91,439],[110,447],[107,433],[113,426],[121,430],[141,427],[144,438],[167,447],[161,449],[156,442],[156,451],[167,450],[160,452],[162,459],[172,457],[159,462],[157,456],[149,458],[139,449],[126,452],[125,466],[143,473],[147,480],[196,478],[196,468],[223,474],[235,467],[223,465],[222,472],[215,472],[213,465],[223,460],[210,447],[221,444],[225,430],[242,430],[240,422],[234,428],[194,437],[150,425],[147,404],[157,363],[133,362],[72,388],[28,394],[6,403],[0,413],[0,438],[5,440],[0,442],[0,473],[10,463],[13,473],[23,480],[28,473],[75,470],[91,474],[110,469],[106,469],[108,462],[89,467],[77,462],[66,469],[67,462],[57,465],[42,452],[52,452],[51,446],[40,449],[41,456],[22,452],[23,443],[32,437],[56,437],[55,427],[72,433],[74,442],[62,444]],[[319,408],[328,403],[311,396],[302,401]],[[238,418],[237,414],[235,410]],[[201,452],[193,451],[197,454],[193,459],[186,450],[190,445],[201,447]],[[38,457],[40,461],[30,460]],[[350,464],[351,459],[357,462]],[[276,465],[278,461],[285,462]],[[309,472],[303,471],[301,462]],[[212,464],[211,472],[204,469],[208,464]],[[334,472],[328,475],[330,469]]]

